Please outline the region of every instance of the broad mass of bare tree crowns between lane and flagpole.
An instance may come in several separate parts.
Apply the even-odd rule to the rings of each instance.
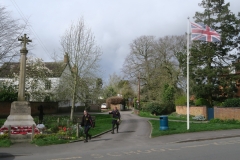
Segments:
[[[177,53],[184,49],[184,36],[141,36],[130,44],[130,54],[125,59],[123,72],[133,82],[140,73],[141,97],[146,100],[161,99],[165,84],[177,88],[182,75]]]

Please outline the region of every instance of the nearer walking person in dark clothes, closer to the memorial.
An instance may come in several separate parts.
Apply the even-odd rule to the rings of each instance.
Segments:
[[[86,135],[84,143],[88,142],[88,138],[89,140],[91,140],[92,135],[88,134],[89,130],[91,127],[94,128],[94,124],[93,124],[93,120],[90,114],[88,114],[87,110],[84,110],[83,112],[83,117],[82,117],[82,122],[81,122],[81,126],[84,126],[84,133]]]

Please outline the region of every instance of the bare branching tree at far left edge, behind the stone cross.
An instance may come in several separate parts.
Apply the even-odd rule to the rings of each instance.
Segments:
[[[25,27],[19,20],[13,19],[5,7],[0,6],[0,65],[20,55],[21,44],[17,38]]]

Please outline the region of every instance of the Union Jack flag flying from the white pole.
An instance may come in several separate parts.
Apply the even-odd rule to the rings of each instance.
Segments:
[[[218,42],[220,34],[212,30],[209,26],[191,22],[192,40]]]

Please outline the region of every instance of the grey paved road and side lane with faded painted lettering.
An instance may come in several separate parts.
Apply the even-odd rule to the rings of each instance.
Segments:
[[[186,151],[187,146],[206,145],[206,141],[196,140],[215,139],[207,145],[210,149],[219,143],[218,138],[234,138],[240,136],[240,130],[213,131],[177,134],[150,138],[151,126],[148,119],[131,114],[130,111],[121,112],[122,124],[119,133],[106,133],[93,138],[88,143],[75,142],[62,145],[37,147],[29,143],[14,144],[10,148],[0,148],[0,155],[4,159],[17,160],[64,160],[64,159],[159,159],[159,153],[170,154],[170,151]],[[109,122],[111,123],[111,122]],[[184,143],[180,143],[184,142]],[[203,144],[202,144],[203,142]],[[240,141],[235,140],[234,147],[239,148]],[[189,143],[191,143],[189,145]],[[233,146],[233,145],[232,145]],[[186,147],[186,148],[184,148]],[[165,152],[167,151],[167,152]],[[234,152],[235,150],[233,150]],[[196,152],[195,150],[192,152]],[[149,154],[151,153],[151,154]],[[171,154],[170,154],[171,155]],[[172,154],[177,157],[177,155]],[[167,158],[167,157],[165,157]]]

